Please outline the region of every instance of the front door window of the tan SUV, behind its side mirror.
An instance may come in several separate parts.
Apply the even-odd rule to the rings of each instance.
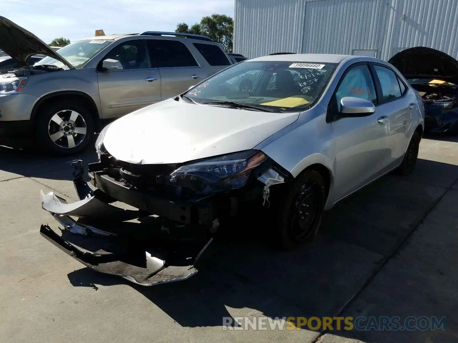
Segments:
[[[145,41],[142,39],[120,43],[104,59],[120,61],[124,70],[149,68]]]

